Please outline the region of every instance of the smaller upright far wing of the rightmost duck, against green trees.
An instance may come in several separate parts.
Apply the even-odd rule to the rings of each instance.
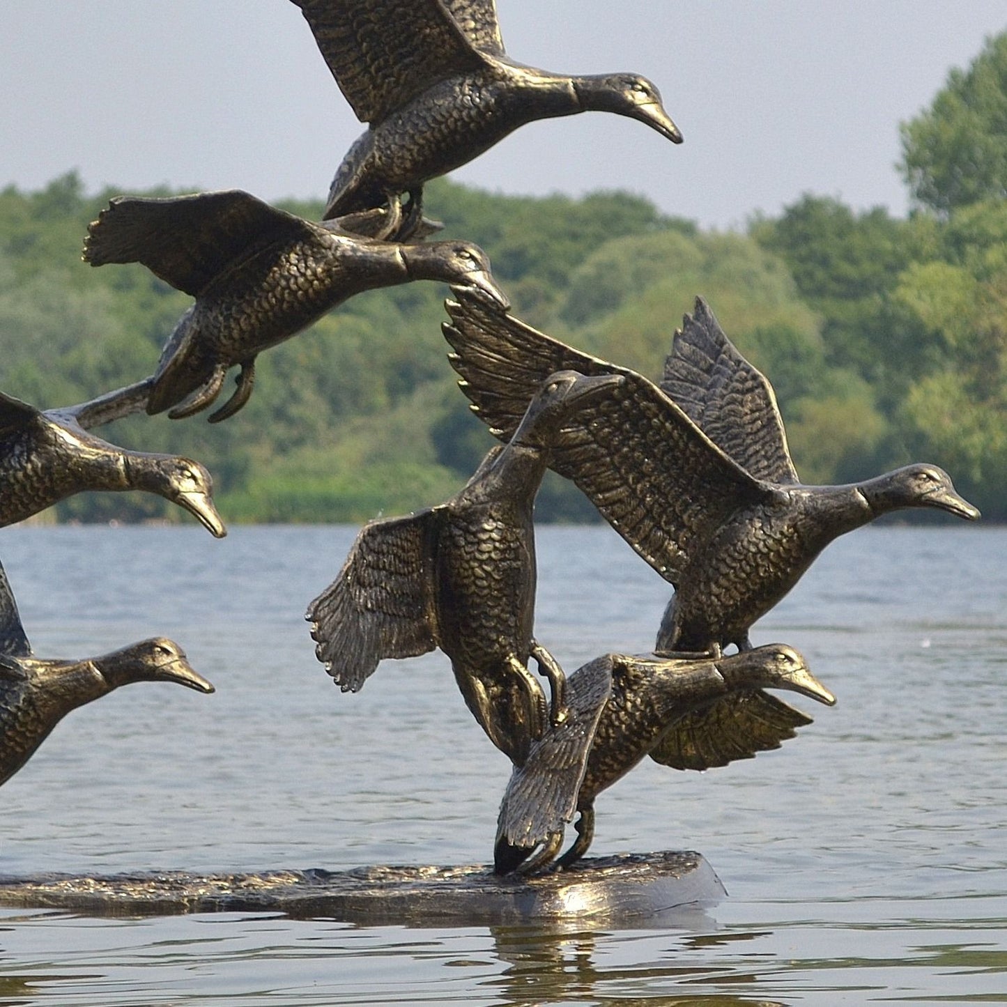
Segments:
[[[675,333],[661,389],[755,478],[798,481],[772,386],[738,352],[702,297]]]

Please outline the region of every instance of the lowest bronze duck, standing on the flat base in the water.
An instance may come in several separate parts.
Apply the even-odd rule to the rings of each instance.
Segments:
[[[836,702],[804,658],[778,643],[719,658],[607,654],[570,676],[571,697],[581,690],[585,677],[591,690],[601,681],[610,683],[610,689],[593,729],[577,796],[577,839],[556,861],[559,867],[579,860],[591,845],[595,798],[645,755],[676,769],[710,769],[778,748],[798,727],[812,723],[811,717],[763,689],[787,689],[829,706]],[[721,702],[727,696],[735,702]],[[548,748],[535,744],[525,764],[515,769],[500,807],[497,873],[531,873],[555,859],[563,842],[563,820],[555,816],[544,823],[540,808],[550,781],[570,760],[558,741]],[[526,825],[524,835],[520,824]],[[507,829],[523,841],[508,842]],[[542,849],[526,860],[539,843]]]

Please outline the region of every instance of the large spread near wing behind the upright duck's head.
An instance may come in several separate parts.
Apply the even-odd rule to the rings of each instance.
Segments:
[[[697,539],[768,491],[641,375],[552,339],[465,288],[452,291],[449,359],[476,416],[501,440],[554,372],[623,377],[610,397],[567,421],[549,465],[666,580],[678,582]]]

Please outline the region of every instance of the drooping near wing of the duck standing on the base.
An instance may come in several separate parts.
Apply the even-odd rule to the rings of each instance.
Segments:
[[[588,752],[612,684],[609,657],[585,665],[567,682],[569,715],[516,766],[500,804],[496,840],[532,849],[563,829],[577,808]]]

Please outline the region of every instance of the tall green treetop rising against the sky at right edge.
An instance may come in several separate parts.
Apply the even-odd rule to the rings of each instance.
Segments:
[[[953,69],[932,104],[903,123],[902,174],[913,197],[947,214],[1007,197],[1007,32]]]

